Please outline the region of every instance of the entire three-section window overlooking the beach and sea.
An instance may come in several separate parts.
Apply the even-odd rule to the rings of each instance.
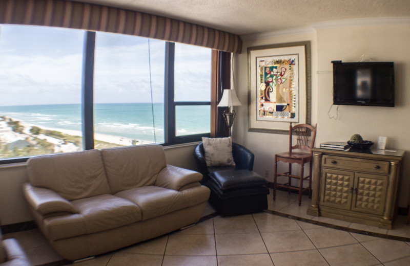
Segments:
[[[93,34],[0,26],[0,163],[210,136],[211,49]],[[93,69],[84,71],[90,54]],[[93,82],[88,95],[85,78]],[[84,126],[84,112],[92,126]],[[92,147],[83,144],[87,136]]]

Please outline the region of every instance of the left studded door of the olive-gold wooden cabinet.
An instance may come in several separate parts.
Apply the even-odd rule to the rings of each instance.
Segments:
[[[354,172],[322,169],[320,205],[350,210]]]

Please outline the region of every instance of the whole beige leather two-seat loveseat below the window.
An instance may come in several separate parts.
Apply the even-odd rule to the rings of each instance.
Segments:
[[[167,165],[160,145],[38,156],[27,169],[35,223],[68,260],[196,223],[210,195],[200,173]]]

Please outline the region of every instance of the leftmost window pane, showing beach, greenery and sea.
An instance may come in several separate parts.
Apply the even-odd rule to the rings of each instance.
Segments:
[[[0,158],[82,150],[84,33],[0,27]]]

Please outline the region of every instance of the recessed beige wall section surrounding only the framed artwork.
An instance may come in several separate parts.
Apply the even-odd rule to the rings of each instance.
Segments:
[[[316,32],[313,29],[305,30],[305,33],[301,34],[244,40],[242,53],[234,56],[235,90],[242,105],[235,106],[237,116],[233,125],[232,136],[235,142],[248,147],[255,153],[254,170],[265,177],[265,171],[269,171],[267,179],[271,182],[273,182],[274,155],[288,148],[289,135],[248,132],[247,48],[294,41],[311,41],[312,123],[315,124],[317,117],[317,78],[315,74],[317,72],[317,42]],[[284,165],[279,165],[279,167],[279,171],[284,171],[284,168],[282,168]],[[294,169],[298,170],[297,167],[294,167]]]

